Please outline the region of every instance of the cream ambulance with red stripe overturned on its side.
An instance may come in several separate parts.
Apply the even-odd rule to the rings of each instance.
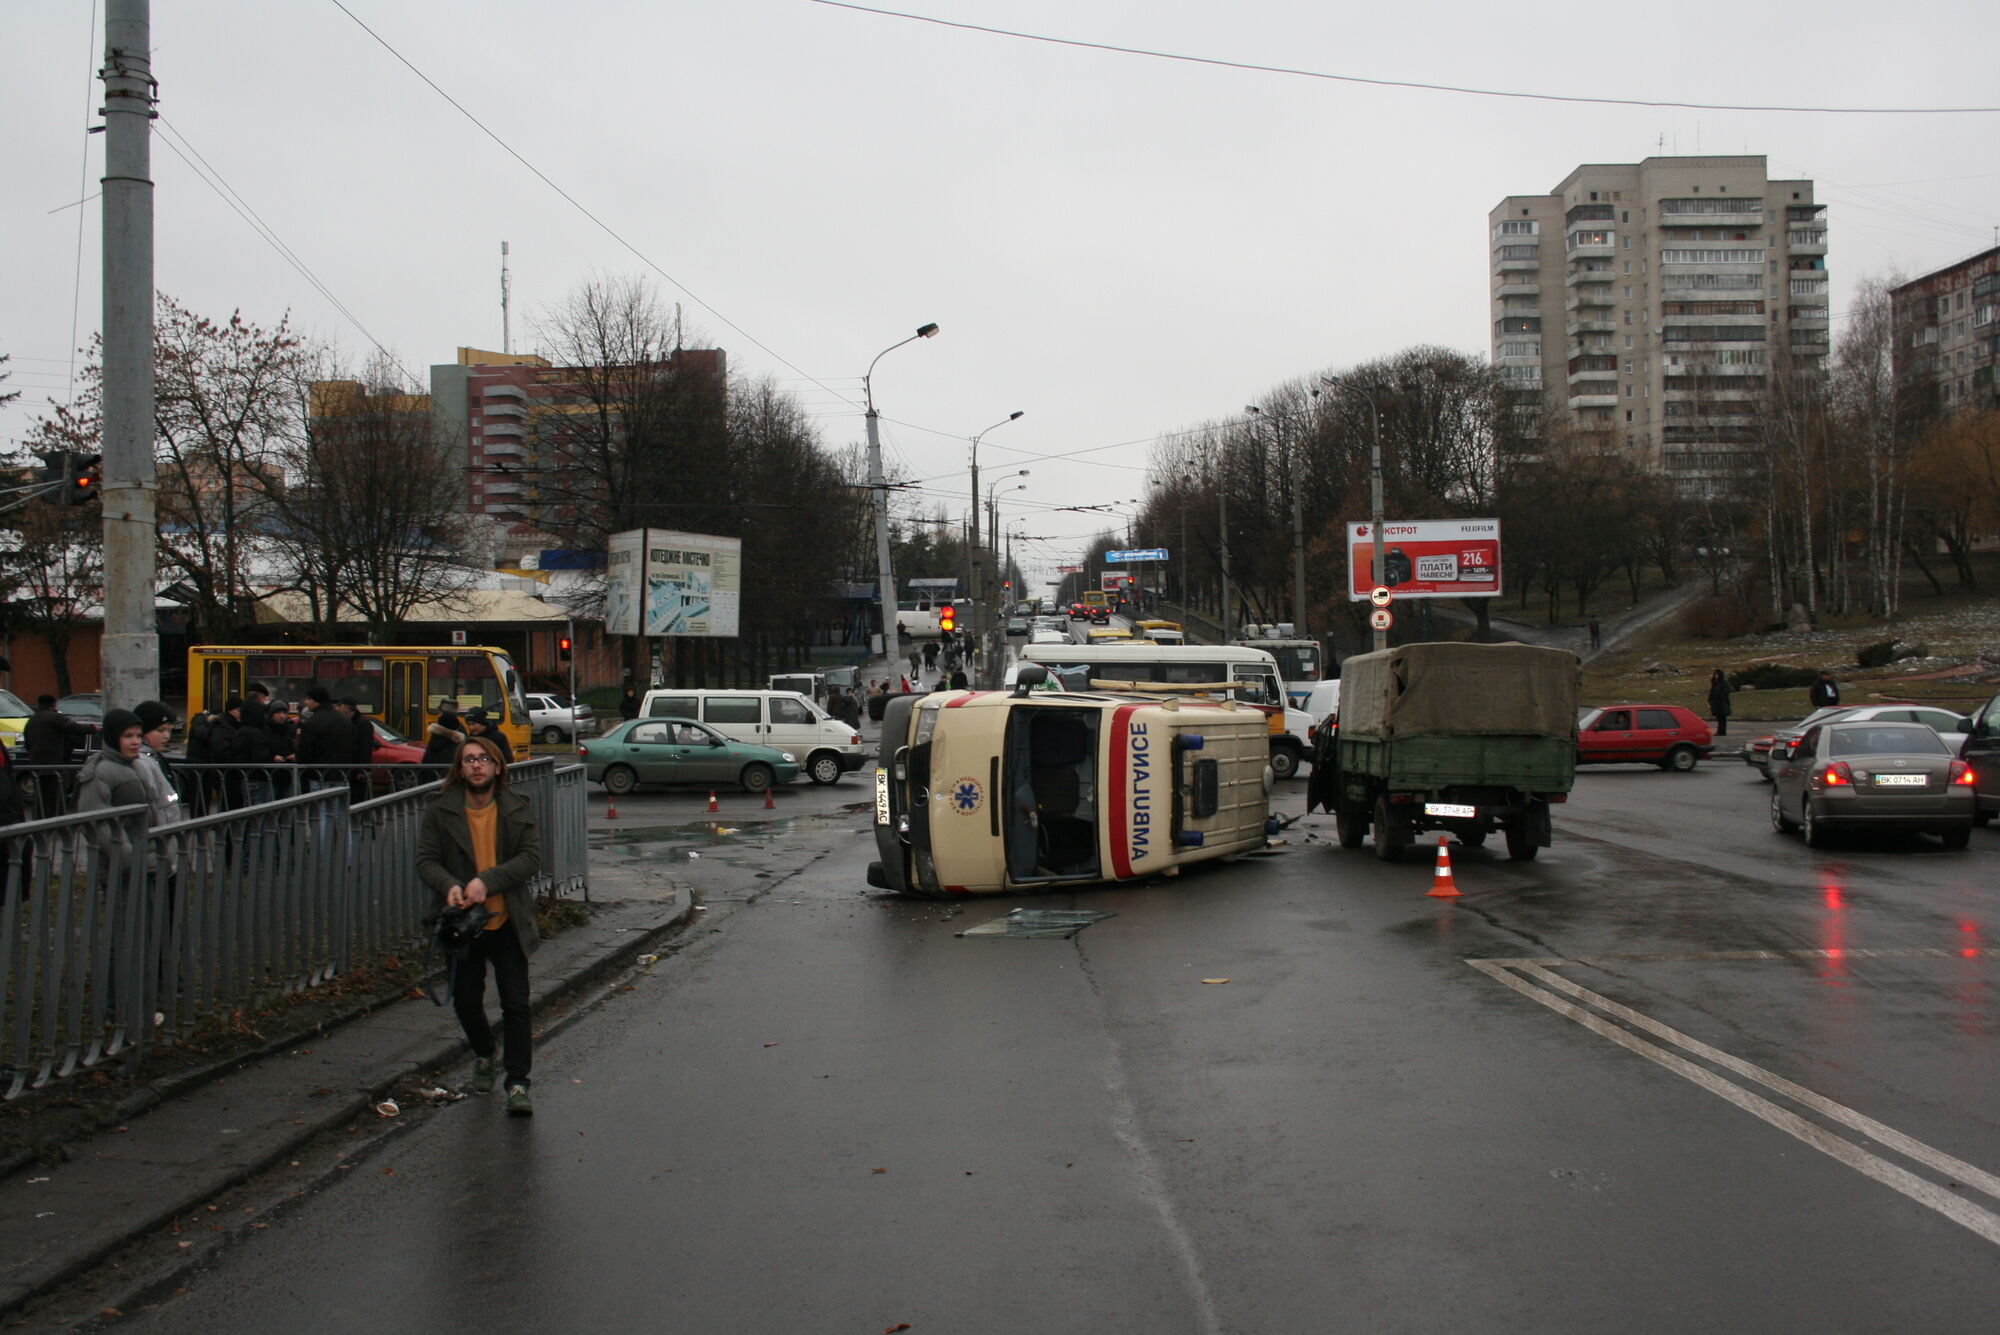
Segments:
[[[882,717],[868,883],[994,895],[1132,881],[1264,847],[1264,715],[1234,699],[900,695]]]

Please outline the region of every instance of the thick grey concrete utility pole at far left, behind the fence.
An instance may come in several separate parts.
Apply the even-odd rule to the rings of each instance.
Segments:
[[[104,703],[160,695],[152,464],[152,14],[104,8]]]

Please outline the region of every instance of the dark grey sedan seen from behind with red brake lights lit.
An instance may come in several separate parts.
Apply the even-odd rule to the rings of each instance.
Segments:
[[[1918,829],[1944,847],[1972,839],[1972,769],[1922,723],[1820,723],[1772,767],[1772,829],[1804,829],[1812,847],[1832,829]]]

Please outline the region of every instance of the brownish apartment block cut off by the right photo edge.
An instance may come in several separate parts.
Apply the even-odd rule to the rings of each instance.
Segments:
[[[2000,408],[2000,246],[1890,292],[1896,384],[1930,412]]]

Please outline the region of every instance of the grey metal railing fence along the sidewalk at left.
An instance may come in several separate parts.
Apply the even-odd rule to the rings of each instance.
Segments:
[[[508,783],[542,829],[536,895],[588,897],[584,769]],[[142,1061],[204,1023],[422,945],[416,831],[438,783],[346,785],[148,827],[146,807],[0,827],[0,1097]]]

